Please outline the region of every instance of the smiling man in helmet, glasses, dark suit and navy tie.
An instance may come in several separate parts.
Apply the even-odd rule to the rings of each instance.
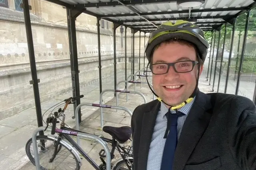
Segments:
[[[158,100],[132,116],[133,170],[256,169],[256,110],[198,89],[208,43],[192,23],[165,22],[145,47]]]

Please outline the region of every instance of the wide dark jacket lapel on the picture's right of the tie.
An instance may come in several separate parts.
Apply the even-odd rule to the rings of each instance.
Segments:
[[[174,169],[183,169],[189,156],[206,130],[211,113],[210,96],[199,92],[185,120],[175,153]]]

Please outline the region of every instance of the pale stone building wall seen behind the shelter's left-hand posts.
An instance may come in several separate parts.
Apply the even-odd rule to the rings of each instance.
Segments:
[[[70,52],[67,30],[67,12],[61,6],[46,1],[30,0],[31,23],[37,66],[40,79],[40,101],[45,102],[59,94],[70,92]],[[96,18],[81,14],[76,20],[77,52],[80,86],[99,81],[98,39]],[[104,21],[100,29],[102,79],[113,76],[114,39],[113,25]],[[23,12],[0,7],[0,120],[34,106],[33,86],[26,28]],[[144,51],[144,33],[141,34],[141,55]],[[124,33],[117,29],[117,70],[124,71]],[[135,54],[139,53],[139,33],[135,34]],[[147,37],[146,37],[147,40]],[[127,29],[127,57],[131,57],[131,30]],[[127,69],[131,63],[127,58]],[[136,60],[136,64],[137,64]],[[143,59],[141,59],[143,65]],[[141,67],[142,68],[142,67]]]

